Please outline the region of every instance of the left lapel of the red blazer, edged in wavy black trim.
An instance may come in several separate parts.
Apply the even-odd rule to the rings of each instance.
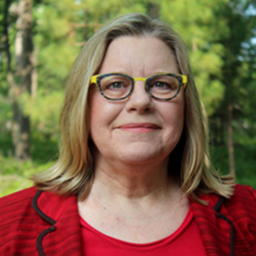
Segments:
[[[76,196],[62,197],[38,191],[32,207],[44,219],[38,224],[37,248],[40,256],[82,256],[82,238]]]

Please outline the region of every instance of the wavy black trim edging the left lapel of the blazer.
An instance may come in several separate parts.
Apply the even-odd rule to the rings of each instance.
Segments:
[[[56,230],[55,228],[55,220],[53,218],[49,218],[49,216],[47,216],[44,212],[41,211],[41,209],[38,207],[38,198],[39,196],[43,193],[42,190],[38,190],[38,192],[36,193],[36,195],[34,195],[33,199],[32,199],[32,208],[34,209],[35,212],[38,213],[38,215],[43,218],[46,222],[48,222],[49,224],[51,224],[51,227],[49,227],[48,229],[44,230],[43,232],[41,232],[38,236],[37,239],[37,248],[38,248],[38,253],[40,256],[45,256],[44,253],[44,249],[43,249],[43,245],[42,245],[42,241],[44,236],[46,236],[47,234],[49,234],[50,232],[53,232]]]

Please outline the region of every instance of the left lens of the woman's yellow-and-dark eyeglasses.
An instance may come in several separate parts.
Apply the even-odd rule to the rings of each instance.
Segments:
[[[110,99],[120,99],[128,96],[131,91],[131,79],[122,75],[108,75],[100,80],[104,96]]]

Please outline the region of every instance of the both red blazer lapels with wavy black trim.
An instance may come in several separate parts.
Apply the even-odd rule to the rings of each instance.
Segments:
[[[224,198],[202,195],[201,199],[208,201],[208,205],[203,206],[190,199],[189,203],[207,255],[235,255],[234,226],[230,218],[220,212],[224,208]],[[76,196],[63,197],[39,190],[33,197],[32,207],[44,219],[44,224],[38,224],[37,248],[40,256],[54,252],[55,255],[82,256]]]

